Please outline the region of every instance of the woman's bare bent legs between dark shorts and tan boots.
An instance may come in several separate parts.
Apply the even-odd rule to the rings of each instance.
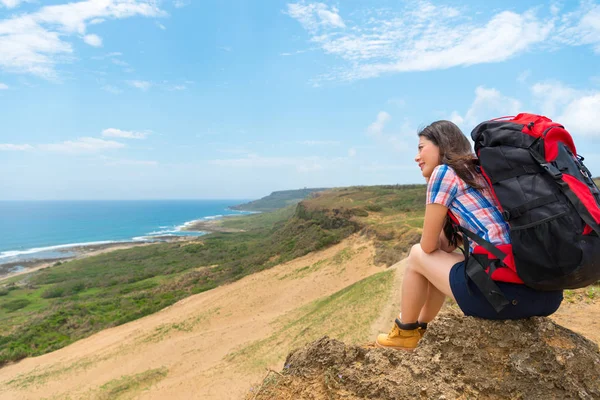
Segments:
[[[436,250],[426,254],[421,245],[412,247],[402,284],[402,322],[431,321],[452,295],[450,269],[464,260],[461,254]],[[431,289],[431,290],[430,290]]]

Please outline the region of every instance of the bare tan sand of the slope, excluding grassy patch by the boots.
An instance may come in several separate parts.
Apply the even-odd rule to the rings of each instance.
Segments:
[[[354,255],[344,262],[342,273],[335,263],[297,273],[347,248]],[[373,255],[371,242],[353,236],[56,352],[22,360],[0,370],[0,398],[102,398],[101,386],[107,382],[157,368],[166,368],[167,376],[136,398],[241,398],[265,372],[238,371],[224,357],[268,336],[277,317],[382,271],[373,265]]]

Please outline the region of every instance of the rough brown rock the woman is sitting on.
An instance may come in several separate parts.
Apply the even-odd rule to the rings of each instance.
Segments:
[[[257,399],[599,399],[598,346],[547,318],[443,314],[414,352],[323,337],[292,351]]]

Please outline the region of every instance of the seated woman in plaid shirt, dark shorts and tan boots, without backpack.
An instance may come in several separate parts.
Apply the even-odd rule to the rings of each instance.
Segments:
[[[446,296],[454,299],[465,315],[485,319],[517,319],[555,312],[562,301],[562,291],[539,292],[522,284],[496,282],[510,302],[497,313],[468,280],[465,257],[454,252],[460,239],[453,233],[448,211],[463,228],[494,245],[510,243],[509,226],[479,172],[470,142],[458,126],[437,121],[418,135],[415,161],[427,182],[423,234],[408,256],[401,313],[390,333],[380,334],[376,344],[414,349]],[[472,251],[473,247],[469,243],[465,250]]]

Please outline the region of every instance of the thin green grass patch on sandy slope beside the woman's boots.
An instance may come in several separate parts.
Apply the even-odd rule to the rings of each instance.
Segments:
[[[365,278],[331,296],[316,300],[278,319],[269,337],[227,355],[242,370],[258,371],[275,364],[293,348],[323,335],[360,343],[389,298],[394,271]]]

